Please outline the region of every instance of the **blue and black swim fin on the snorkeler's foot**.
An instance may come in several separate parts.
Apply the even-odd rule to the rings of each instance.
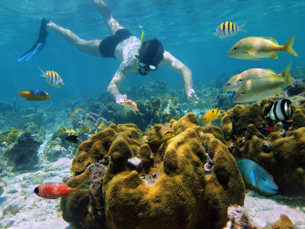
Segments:
[[[33,45],[33,47],[31,47],[30,50],[28,50],[26,53],[24,53],[22,56],[20,56],[16,60],[17,63],[27,62],[33,55],[35,55],[37,52],[39,52],[43,48],[45,41],[46,41],[46,37],[49,34],[46,30],[46,24],[49,22],[50,22],[50,20],[48,20],[44,17],[42,18],[41,24],[40,24],[40,30],[39,30],[39,34],[38,34],[38,40]]]

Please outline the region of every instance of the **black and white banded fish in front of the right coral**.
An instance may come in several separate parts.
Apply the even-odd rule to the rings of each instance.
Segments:
[[[272,105],[269,116],[272,120],[288,120],[291,118],[293,111],[289,99],[280,99]]]

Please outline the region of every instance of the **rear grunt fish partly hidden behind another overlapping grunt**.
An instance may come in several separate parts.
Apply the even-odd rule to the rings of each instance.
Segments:
[[[232,76],[223,86],[223,90],[238,91],[243,82],[255,77],[264,77],[269,75],[276,75],[276,73],[271,69],[251,68],[246,71],[243,71],[240,74]]]

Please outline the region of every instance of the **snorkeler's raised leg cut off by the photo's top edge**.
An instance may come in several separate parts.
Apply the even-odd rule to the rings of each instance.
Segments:
[[[111,35],[114,35],[116,33],[116,31],[118,31],[119,29],[124,28],[122,25],[119,24],[118,21],[116,21],[108,6],[106,5],[106,3],[102,0],[92,0],[94,6],[96,7],[96,9],[102,14],[105,23],[108,26],[108,29],[111,33]]]

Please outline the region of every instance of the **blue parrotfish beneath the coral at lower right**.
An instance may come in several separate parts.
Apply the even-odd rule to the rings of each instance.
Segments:
[[[251,189],[265,195],[274,195],[278,192],[279,187],[273,176],[263,167],[249,159],[238,159],[236,162],[244,182]]]

